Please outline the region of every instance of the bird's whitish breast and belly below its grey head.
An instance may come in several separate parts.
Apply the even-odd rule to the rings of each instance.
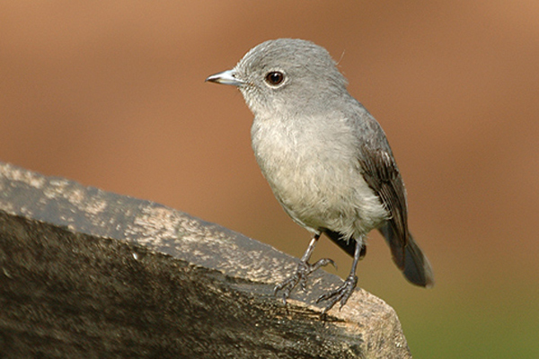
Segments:
[[[370,231],[386,216],[359,171],[354,141],[346,127],[324,131],[256,118],[252,125],[255,157],[287,214],[307,229],[349,236]]]

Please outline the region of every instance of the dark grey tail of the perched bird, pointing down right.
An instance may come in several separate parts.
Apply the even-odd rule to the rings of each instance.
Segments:
[[[395,248],[395,243],[402,241],[396,240],[396,233],[393,227],[386,223],[379,231],[384,236],[385,241],[393,252],[393,261],[402,270],[402,274],[414,285],[430,288],[434,285],[434,275],[430,267],[429,259],[423,254],[420,246],[413,240],[411,233],[408,233],[408,241],[404,247],[404,256],[395,256],[395,253],[402,253],[402,247]]]

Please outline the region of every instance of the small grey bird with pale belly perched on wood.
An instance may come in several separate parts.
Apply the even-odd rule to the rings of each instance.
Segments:
[[[408,230],[406,191],[384,130],[347,91],[325,48],[303,39],[275,39],[252,48],[232,69],[206,81],[236,86],[254,114],[252,149],[288,215],[313,233],[296,272],[275,287],[287,302],[315,269],[309,263],[325,233],[353,257],[349,276],[321,295],[325,313],[342,307],[358,283],[367,233],[377,229],[393,261],[414,285],[430,287],[429,260]]]

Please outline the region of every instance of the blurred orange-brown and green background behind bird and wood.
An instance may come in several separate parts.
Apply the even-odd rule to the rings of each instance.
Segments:
[[[373,232],[359,285],[415,358],[536,358],[538,19],[536,0],[2,2],[0,161],[300,257],[309,233],[261,176],[243,97],[204,80],[263,40],[311,39],[384,127],[437,280],[409,285]],[[348,274],[331,241],[315,255]]]

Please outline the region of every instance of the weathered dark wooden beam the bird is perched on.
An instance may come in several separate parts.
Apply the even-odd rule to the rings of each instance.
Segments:
[[[273,286],[297,259],[171,208],[0,163],[0,354],[411,358],[391,307],[358,289],[320,320]],[[338,308],[338,306],[337,306]]]

